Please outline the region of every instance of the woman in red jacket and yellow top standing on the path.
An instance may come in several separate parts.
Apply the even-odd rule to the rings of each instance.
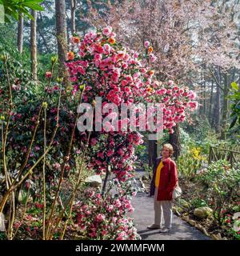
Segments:
[[[172,226],[173,190],[178,182],[178,172],[175,162],[170,158],[174,153],[171,144],[164,144],[162,157],[156,158],[154,175],[150,185],[150,196],[154,195],[154,224],[148,229],[160,229],[160,233],[170,231]],[[162,217],[165,226],[162,227]]]

